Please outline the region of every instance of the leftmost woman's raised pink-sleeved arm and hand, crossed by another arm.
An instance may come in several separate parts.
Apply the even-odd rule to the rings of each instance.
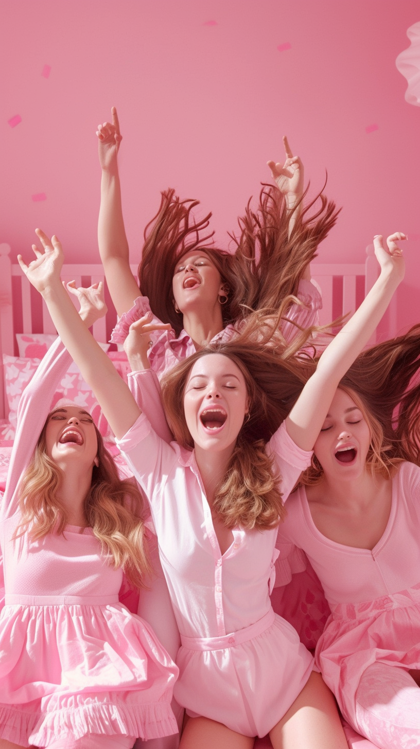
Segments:
[[[67,297],[65,290],[63,294]],[[102,284],[95,284],[88,289],[71,289],[80,300],[80,324],[86,328],[94,324],[105,314]],[[70,299],[68,299],[69,303]],[[73,307],[73,304],[71,304]],[[83,320],[83,322],[82,322]],[[7,473],[7,484],[3,510],[13,514],[17,509],[16,489],[23,471],[26,470],[33,455],[38,437],[48,416],[52,397],[71,364],[71,356],[58,338],[46,352],[31,381],[23,391],[17,410],[17,434],[10,456],[10,467]]]

